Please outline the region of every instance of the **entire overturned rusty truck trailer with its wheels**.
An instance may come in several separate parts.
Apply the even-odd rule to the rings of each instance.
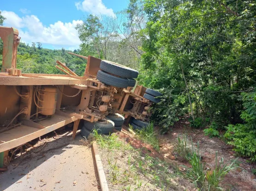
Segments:
[[[149,107],[161,94],[134,88],[136,70],[71,53],[87,59],[83,77],[60,61],[56,67],[65,75],[22,73],[16,68],[18,30],[0,27],[0,38],[0,167],[8,165],[13,150],[72,122],[73,138],[81,123],[82,135],[121,130],[125,118],[137,129],[148,124]]]

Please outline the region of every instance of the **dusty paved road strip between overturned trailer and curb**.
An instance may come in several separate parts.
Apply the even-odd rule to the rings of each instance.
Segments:
[[[81,135],[75,140],[57,136],[40,142],[0,174],[1,191],[98,191],[90,144]]]

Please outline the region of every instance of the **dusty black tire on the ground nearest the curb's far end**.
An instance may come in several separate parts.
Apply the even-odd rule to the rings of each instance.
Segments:
[[[96,130],[98,130],[99,134],[109,135],[109,133],[113,133],[114,122],[111,120],[108,120],[108,119],[105,119],[105,120],[107,120],[106,124],[102,124],[98,121],[95,121],[93,123],[91,123],[89,121],[84,121],[83,127],[88,129],[89,131],[96,129]]]

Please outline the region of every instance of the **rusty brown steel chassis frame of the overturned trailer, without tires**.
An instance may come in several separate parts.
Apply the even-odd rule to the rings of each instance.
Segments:
[[[30,140],[36,139],[71,122],[74,122],[74,138],[81,119],[94,122],[104,119],[108,114],[119,112],[125,114],[126,118],[129,115],[137,119],[147,120],[147,116],[140,112],[142,111],[141,106],[151,105],[149,100],[143,98],[145,88],[143,86],[137,86],[134,93],[132,93],[131,88],[125,90],[101,83],[96,79],[97,72],[100,69],[100,59],[93,56],[86,57],[71,53],[72,55],[88,60],[83,77],[77,76],[76,73],[72,72],[60,61],[57,61],[57,63],[64,69],[58,68],[68,75],[21,73],[16,68],[17,47],[20,39],[18,37],[18,30],[15,28],[0,27],[0,37],[4,43],[3,62],[0,73],[0,90],[2,90],[0,104],[4,103],[6,105],[6,111],[8,110],[8,115],[6,115],[4,108],[2,110],[0,108],[0,124],[9,122],[18,111],[24,110],[24,113],[18,116],[20,124],[6,129],[5,134],[0,133],[0,156],[4,156],[3,161],[6,161],[6,152],[8,150],[21,146]],[[51,118],[41,118],[39,120],[38,107],[34,104],[34,94],[36,91],[34,86],[41,88],[44,85],[57,87],[56,111]],[[18,87],[20,90],[19,94],[23,96],[18,96],[16,94],[17,92],[15,93],[11,87],[15,89]],[[77,100],[77,97],[65,97],[65,91],[81,91],[77,94],[80,100]],[[101,112],[97,108],[97,105],[95,106],[95,96],[97,94],[111,97],[109,102],[103,103],[103,105],[107,105],[107,111]],[[125,111],[129,97],[132,97],[136,101],[136,104],[134,104],[131,110]],[[31,119],[32,116],[36,116],[36,119]]]

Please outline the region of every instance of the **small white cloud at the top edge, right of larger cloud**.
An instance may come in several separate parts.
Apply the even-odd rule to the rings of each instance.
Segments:
[[[107,15],[115,17],[113,9],[108,9],[103,3],[102,0],[83,0],[76,2],[75,6],[77,10],[86,11],[93,15]]]

